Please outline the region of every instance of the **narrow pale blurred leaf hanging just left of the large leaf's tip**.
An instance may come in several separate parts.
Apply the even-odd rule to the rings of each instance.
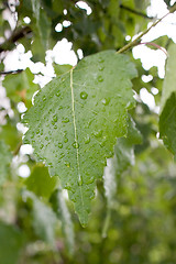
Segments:
[[[70,218],[69,210],[65,197],[63,195],[62,188],[58,188],[52,196],[51,202],[53,205],[54,211],[62,221],[63,233],[65,234],[66,244],[72,255],[75,248],[75,233],[74,223]]]

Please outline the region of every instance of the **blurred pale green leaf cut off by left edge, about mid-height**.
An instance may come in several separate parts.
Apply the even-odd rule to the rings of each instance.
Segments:
[[[0,141],[0,186],[4,183],[10,173],[10,163],[12,162],[12,154],[9,146]]]

